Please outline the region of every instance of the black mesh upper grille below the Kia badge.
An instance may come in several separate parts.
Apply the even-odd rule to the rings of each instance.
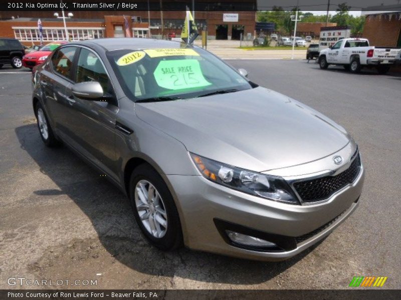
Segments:
[[[360,171],[360,156],[358,150],[356,150],[353,157],[355,157],[355,159],[352,161],[351,165],[338,175],[295,182],[293,186],[302,201],[315,202],[327,199],[337,190],[353,182]]]

